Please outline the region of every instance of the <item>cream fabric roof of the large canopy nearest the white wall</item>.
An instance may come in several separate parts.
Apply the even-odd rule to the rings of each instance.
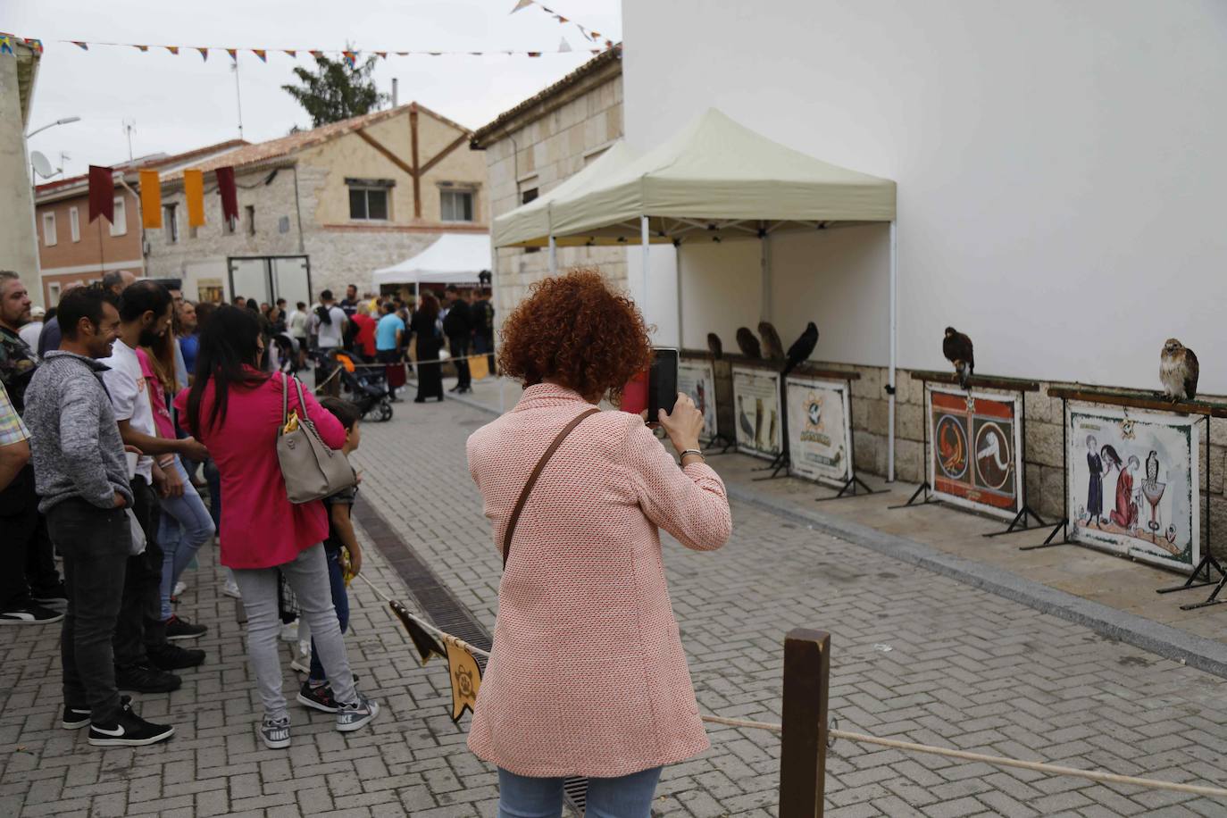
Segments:
[[[652,151],[550,204],[555,235],[591,243],[637,243],[640,216],[649,217],[656,239],[707,223],[755,235],[756,227],[739,223],[888,222],[894,183],[794,151],[712,108]]]

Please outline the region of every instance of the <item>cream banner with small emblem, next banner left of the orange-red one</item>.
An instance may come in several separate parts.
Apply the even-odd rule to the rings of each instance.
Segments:
[[[852,411],[848,381],[789,378],[789,473],[844,486],[852,480]]]

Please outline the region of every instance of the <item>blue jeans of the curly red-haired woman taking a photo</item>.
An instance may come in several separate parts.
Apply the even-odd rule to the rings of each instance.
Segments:
[[[588,779],[584,818],[650,818],[659,766],[616,779]],[[498,818],[560,818],[562,779],[533,779],[498,768]]]

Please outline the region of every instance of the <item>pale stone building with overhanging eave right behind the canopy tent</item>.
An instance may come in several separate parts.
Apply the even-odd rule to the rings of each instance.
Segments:
[[[593,58],[541,93],[474,134],[485,151],[494,217],[544,195],[583,169],[622,137],[622,49]],[[558,269],[594,266],[626,288],[622,248],[558,248]],[[496,321],[550,272],[548,250],[494,251]]]

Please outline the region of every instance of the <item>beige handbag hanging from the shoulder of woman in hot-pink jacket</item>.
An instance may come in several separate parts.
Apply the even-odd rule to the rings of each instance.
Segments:
[[[357,483],[357,476],[345,454],[329,449],[320,440],[315,424],[307,417],[303,385],[298,389],[298,410],[290,416],[290,378],[281,373],[281,428],[277,433],[277,462],[286,480],[286,495],[291,503],[310,503]]]

